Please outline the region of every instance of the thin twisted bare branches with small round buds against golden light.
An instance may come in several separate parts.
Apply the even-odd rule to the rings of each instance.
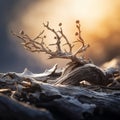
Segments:
[[[28,51],[30,51],[30,52],[44,52],[44,53],[50,55],[49,59],[53,59],[53,58],[70,59],[72,62],[78,62],[81,64],[85,64],[85,63],[90,62],[89,60],[86,60],[83,57],[77,56],[79,53],[86,51],[87,48],[89,47],[89,45],[85,44],[85,41],[81,37],[80,22],[78,20],[76,21],[76,27],[78,30],[78,32],[76,32],[76,36],[78,38],[77,38],[77,41],[74,41],[74,43],[79,42],[82,45],[76,50],[75,53],[73,53],[73,51],[72,51],[73,47],[75,45],[70,43],[70,41],[68,40],[68,38],[64,34],[63,29],[62,29],[62,23],[59,23],[60,29],[58,31],[51,28],[49,25],[49,22],[47,22],[46,24],[43,23],[43,26],[48,31],[52,32],[55,35],[54,39],[56,40],[56,42],[49,44],[49,46],[56,46],[55,51],[50,49],[49,46],[46,45],[46,43],[44,42],[44,39],[46,38],[46,35],[43,35],[44,30],[42,32],[40,32],[40,34],[38,34],[34,39],[30,38],[27,34],[24,33],[24,31],[21,31],[20,34],[13,33],[13,35],[15,35],[16,37],[18,37],[22,40],[22,45]],[[64,45],[62,45],[62,42],[63,42],[61,40],[62,38],[63,38],[63,40],[65,40],[64,45],[68,46],[69,51],[63,50]]]

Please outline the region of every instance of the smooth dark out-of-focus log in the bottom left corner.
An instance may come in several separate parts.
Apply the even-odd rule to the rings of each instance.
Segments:
[[[30,108],[0,94],[0,120],[54,120],[47,110]]]

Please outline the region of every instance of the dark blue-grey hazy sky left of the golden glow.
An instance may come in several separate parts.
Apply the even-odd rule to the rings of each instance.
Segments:
[[[41,64],[25,51],[24,54],[17,41],[11,38],[12,28],[9,24],[17,19],[27,7],[32,4],[32,0],[0,0],[0,72],[16,71],[22,72],[25,67],[32,71],[41,71]],[[16,26],[20,26],[15,23]],[[36,63],[36,64],[33,64]]]

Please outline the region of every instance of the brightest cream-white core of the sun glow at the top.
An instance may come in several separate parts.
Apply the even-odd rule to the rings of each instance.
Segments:
[[[79,18],[83,24],[87,24],[87,29],[96,27],[108,14],[107,11],[110,11],[110,6],[106,6],[107,2],[103,0],[70,0],[69,4],[67,2],[63,6],[66,8],[66,15],[74,19]]]

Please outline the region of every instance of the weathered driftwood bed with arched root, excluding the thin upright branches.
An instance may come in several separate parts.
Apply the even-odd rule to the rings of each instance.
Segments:
[[[1,73],[0,119],[120,119],[120,91],[112,89],[114,84],[106,86],[117,78],[119,83],[118,71],[91,64],[73,66],[62,75],[56,65],[43,74],[27,69],[23,73]],[[82,80],[91,85],[81,86]]]

